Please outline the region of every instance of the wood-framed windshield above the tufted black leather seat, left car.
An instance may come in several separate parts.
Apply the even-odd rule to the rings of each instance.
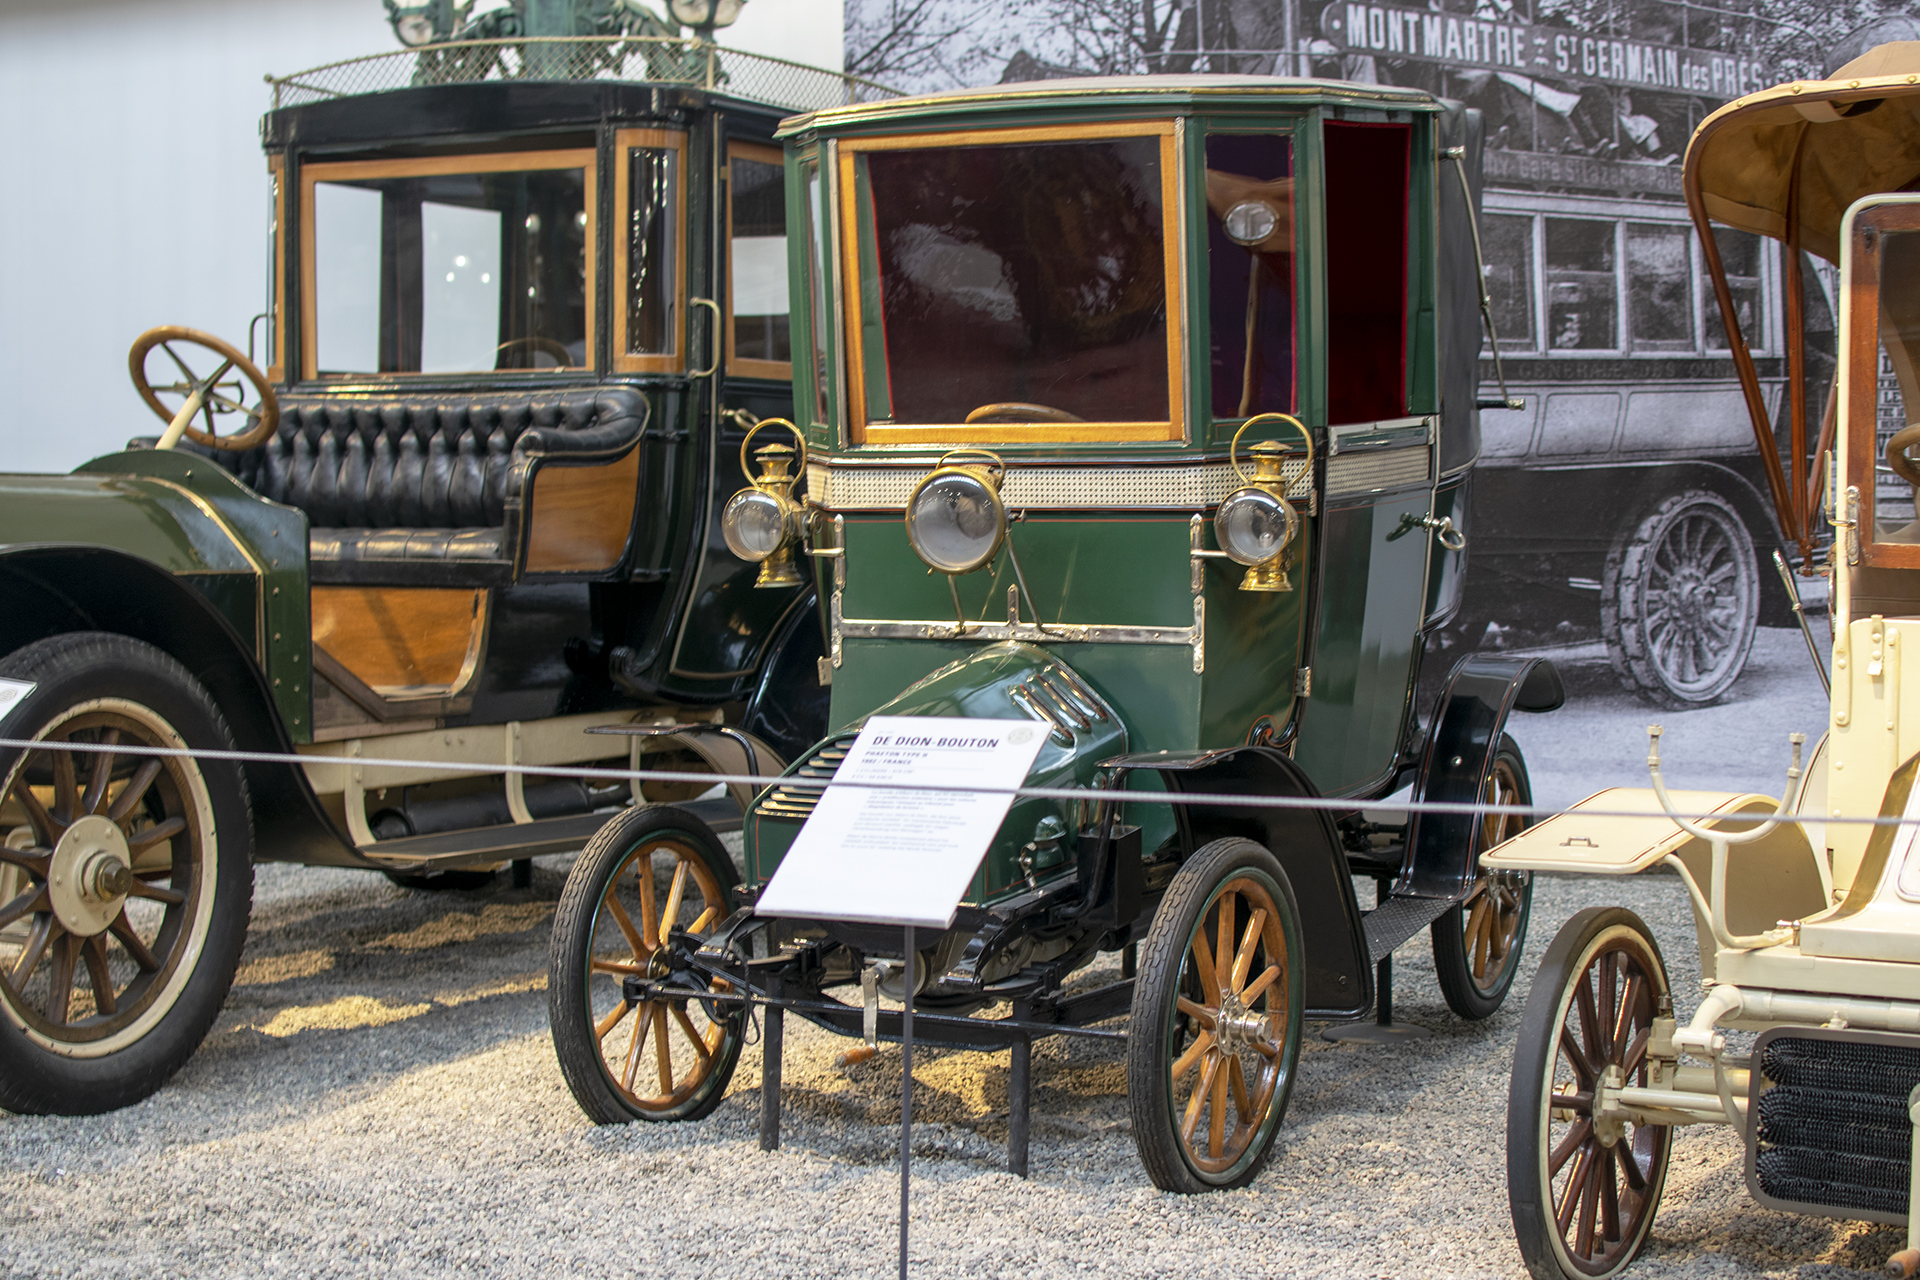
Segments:
[[[591,152],[311,165],[307,376],[586,367],[591,171]]]

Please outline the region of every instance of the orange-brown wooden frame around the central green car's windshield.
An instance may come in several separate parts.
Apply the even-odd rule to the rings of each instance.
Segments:
[[[860,315],[860,201],[854,178],[860,155],[870,152],[918,152],[948,146],[996,146],[1020,142],[1106,142],[1160,138],[1160,228],[1167,297],[1167,418],[1152,422],[866,422],[866,344]],[[1029,125],[1020,129],[968,129],[956,132],[899,134],[839,140],[841,290],[847,307],[841,334],[847,342],[847,439],[852,445],[958,445],[958,443],[1181,443],[1187,439],[1187,282],[1181,259],[1187,248],[1187,184],[1181,180],[1179,123],[1102,121],[1096,125]]]

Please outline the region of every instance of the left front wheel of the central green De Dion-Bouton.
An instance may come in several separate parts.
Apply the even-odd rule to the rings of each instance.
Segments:
[[[699,818],[632,808],[580,854],[553,917],[547,1002],[553,1048],[595,1125],[689,1121],[720,1103],[739,1057],[739,1006],[705,981],[672,935],[712,933],[737,877]],[[630,979],[670,994],[639,998]],[[684,994],[682,994],[684,992]]]

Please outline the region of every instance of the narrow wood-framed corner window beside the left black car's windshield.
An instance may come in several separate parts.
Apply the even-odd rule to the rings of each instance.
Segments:
[[[678,372],[685,367],[687,207],[682,190],[687,136],[660,129],[614,134],[620,297],[614,299],[614,368]]]

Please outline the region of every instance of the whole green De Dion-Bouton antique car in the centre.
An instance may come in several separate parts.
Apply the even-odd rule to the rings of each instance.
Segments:
[[[1528,800],[1503,723],[1559,677],[1473,656],[1415,706],[1471,547],[1478,115],[1140,77],[780,134],[799,426],[743,441],[724,524],[768,583],[810,564],[835,731],[753,800],[739,869],[670,806],[595,837],[553,933],[566,1079],[601,1123],[705,1115],[764,1004],[772,1146],[783,1011],[872,1042],[889,994],[920,1038],[1012,1052],[1016,1171],[1033,1038],[1092,1034],[1127,1040],[1154,1182],[1244,1184],[1304,1019],[1390,1023],[1427,929],[1486,1017],[1526,933],[1528,877],[1475,865],[1519,818],[1473,806]],[[1069,791],[1014,802],[916,956],[755,913],[874,714],[1027,718],[1029,785]],[[1409,787],[1461,812],[1369,812]],[[1116,950],[1117,981],[1069,986]]]

